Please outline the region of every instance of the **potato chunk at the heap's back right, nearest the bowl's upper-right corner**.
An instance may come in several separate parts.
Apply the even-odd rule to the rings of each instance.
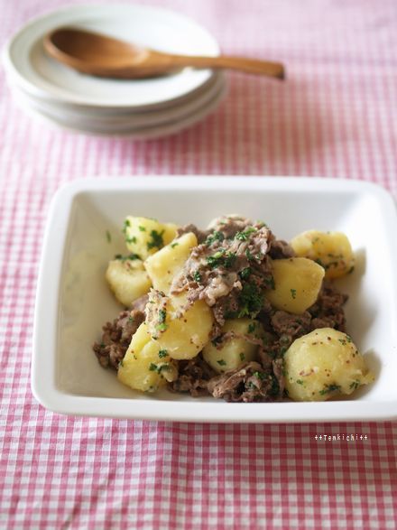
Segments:
[[[342,232],[309,230],[294,237],[291,246],[297,256],[309,257],[322,265],[327,278],[344,276],[355,265],[350,241]]]

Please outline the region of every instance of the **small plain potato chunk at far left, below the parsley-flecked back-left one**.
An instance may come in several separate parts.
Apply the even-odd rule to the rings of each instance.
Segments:
[[[152,286],[143,262],[139,259],[120,258],[110,261],[105,277],[115,298],[125,307],[148,293]]]

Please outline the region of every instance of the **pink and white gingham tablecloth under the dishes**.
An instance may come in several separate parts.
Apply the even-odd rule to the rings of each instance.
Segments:
[[[33,122],[0,74],[0,527],[396,528],[395,423],[129,422],[51,414],[32,397],[38,259],[65,181],[324,175],[397,196],[395,0],[156,3],[195,17],[226,52],[282,60],[288,79],[228,74],[203,123],[133,142]],[[61,4],[3,0],[0,43]]]

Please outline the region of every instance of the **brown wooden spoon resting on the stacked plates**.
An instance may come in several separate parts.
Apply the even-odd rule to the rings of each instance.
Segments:
[[[75,70],[106,78],[149,78],[193,66],[227,68],[284,79],[284,67],[280,62],[242,57],[173,55],[78,28],[59,28],[47,34],[44,48],[51,57]]]

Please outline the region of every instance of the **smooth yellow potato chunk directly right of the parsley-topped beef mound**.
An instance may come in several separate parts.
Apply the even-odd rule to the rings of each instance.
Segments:
[[[276,309],[301,314],[316,302],[324,274],[323,267],[306,257],[274,259],[274,289],[264,296]]]

